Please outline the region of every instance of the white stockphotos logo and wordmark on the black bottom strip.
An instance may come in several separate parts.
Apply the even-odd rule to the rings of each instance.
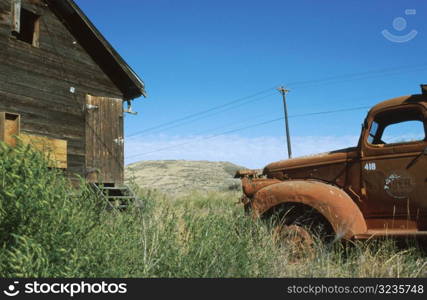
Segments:
[[[21,293],[24,294],[59,294],[74,297],[78,294],[126,294],[126,283],[39,283],[37,281],[27,282],[22,287],[19,281],[14,281],[6,290],[3,291],[6,296],[15,297]]]

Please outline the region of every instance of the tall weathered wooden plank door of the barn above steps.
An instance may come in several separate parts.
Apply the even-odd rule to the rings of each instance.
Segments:
[[[87,179],[123,183],[122,100],[87,95],[85,111]]]

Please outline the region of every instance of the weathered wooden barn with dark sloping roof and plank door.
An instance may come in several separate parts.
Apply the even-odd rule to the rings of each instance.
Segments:
[[[118,186],[123,102],[140,96],[143,81],[72,0],[0,0],[0,140],[19,135],[70,178]]]

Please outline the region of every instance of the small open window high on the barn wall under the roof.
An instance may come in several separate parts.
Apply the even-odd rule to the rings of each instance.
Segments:
[[[18,40],[24,41],[34,47],[39,46],[40,16],[20,7],[20,12],[16,16],[19,22],[15,21],[13,34]]]

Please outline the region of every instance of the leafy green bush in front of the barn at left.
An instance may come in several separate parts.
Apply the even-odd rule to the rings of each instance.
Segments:
[[[30,146],[0,144],[0,275],[73,276],[80,239],[100,222],[96,197],[79,195]]]

